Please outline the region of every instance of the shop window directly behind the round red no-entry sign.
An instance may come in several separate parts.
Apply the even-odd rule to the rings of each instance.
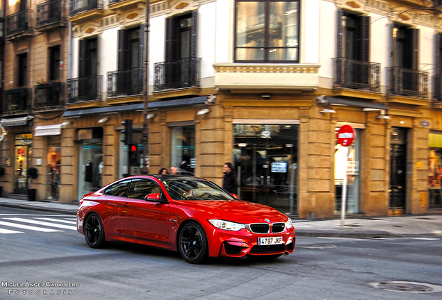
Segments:
[[[339,128],[336,128],[336,132]],[[347,213],[359,213],[359,164],[361,148],[361,130],[355,129],[356,139],[347,149]],[[334,147],[334,187],[335,187],[335,213],[341,211],[343,182],[345,178],[345,149],[336,140]]]

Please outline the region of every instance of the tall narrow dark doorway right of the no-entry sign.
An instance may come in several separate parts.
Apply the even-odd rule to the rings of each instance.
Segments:
[[[407,183],[407,129],[391,129],[389,208],[405,211]]]

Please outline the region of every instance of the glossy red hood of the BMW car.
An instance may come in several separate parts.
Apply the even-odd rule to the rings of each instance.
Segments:
[[[210,218],[225,221],[249,223],[286,222],[287,216],[275,208],[247,201],[179,201],[178,206],[186,207],[200,213],[206,213]],[[266,220],[268,219],[268,221]]]

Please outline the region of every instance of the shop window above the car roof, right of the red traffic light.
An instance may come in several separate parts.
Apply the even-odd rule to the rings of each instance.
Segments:
[[[171,128],[170,166],[182,174],[195,174],[195,126]]]

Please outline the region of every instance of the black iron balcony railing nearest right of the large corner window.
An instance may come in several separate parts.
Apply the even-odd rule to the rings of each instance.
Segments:
[[[379,63],[370,63],[351,58],[333,58],[334,88],[380,91]]]

